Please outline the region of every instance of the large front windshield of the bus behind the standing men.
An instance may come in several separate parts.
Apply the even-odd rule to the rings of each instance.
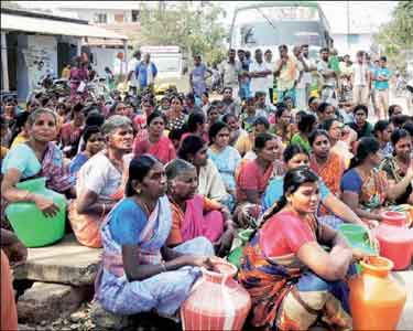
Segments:
[[[323,46],[324,26],[317,6],[254,7],[239,10],[231,30],[232,47],[309,44]]]

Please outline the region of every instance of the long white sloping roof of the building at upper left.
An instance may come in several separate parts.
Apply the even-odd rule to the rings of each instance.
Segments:
[[[20,10],[1,11],[1,30],[128,40],[126,35],[99,26],[89,25],[86,21]]]

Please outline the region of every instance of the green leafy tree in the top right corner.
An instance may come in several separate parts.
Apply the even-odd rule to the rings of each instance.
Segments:
[[[390,65],[401,71],[406,66],[406,54],[413,50],[413,1],[399,1],[392,20],[374,36]]]

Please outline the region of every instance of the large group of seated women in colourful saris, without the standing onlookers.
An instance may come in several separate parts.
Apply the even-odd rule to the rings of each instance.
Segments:
[[[96,295],[107,310],[177,319],[199,267],[225,257],[238,228],[253,228],[239,281],[254,327],[306,330],[319,317],[334,330],[351,325],[345,279],[362,254],[336,229],[348,222],[369,231],[384,210],[411,207],[409,120],[372,127],[357,106],[346,126],[327,104],[318,122],[298,111],[292,126],[281,107],[275,127],[259,117],[243,131],[236,115],[220,120],[218,106],[187,116],[174,96],[166,114],[149,105],[135,132],[135,118],[118,106],[106,118],[74,107],[63,126],[56,111],[37,107],[26,140],[1,166],[2,207],[33,202],[55,215],[52,200],[17,186],[36,177],[69,200],[77,241],[104,247]]]

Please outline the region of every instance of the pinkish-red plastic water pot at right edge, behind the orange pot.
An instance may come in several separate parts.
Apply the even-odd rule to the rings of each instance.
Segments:
[[[376,231],[380,255],[391,259],[395,270],[406,269],[413,256],[413,229],[380,224]]]

